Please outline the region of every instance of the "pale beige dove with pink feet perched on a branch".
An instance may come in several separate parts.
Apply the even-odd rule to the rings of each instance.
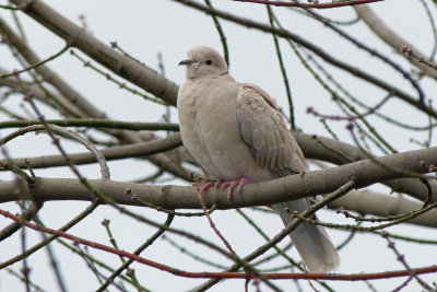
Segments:
[[[180,133],[188,152],[214,178],[215,185],[239,189],[306,170],[300,148],[273,101],[260,87],[236,82],[222,56],[206,46],[193,47],[186,66],[177,107]],[[206,184],[202,191],[214,184]],[[269,196],[265,194],[265,196]],[[272,205],[285,225],[293,211],[309,207],[307,199]],[[288,210],[290,209],[290,210]],[[328,272],[340,257],[323,227],[302,223],[290,236],[308,270]]]

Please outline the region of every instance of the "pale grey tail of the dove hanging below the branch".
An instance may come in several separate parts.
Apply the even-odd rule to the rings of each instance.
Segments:
[[[292,213],[303,212],[309,207],[309,202],[307,199],[299,199],[274,203],[272,207],[286,226],[294,220]],[[285,211],[286,209],[290,209],[292,213]],[[340,266],[339,254],[322,226],[302,222],[295,231],[290,233],[290,237],[309,271],[329,272]]]

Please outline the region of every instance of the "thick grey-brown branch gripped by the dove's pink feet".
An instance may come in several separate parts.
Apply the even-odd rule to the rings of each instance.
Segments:
[[[421,161],[436,165],[437,148],[398,153],[378,157],[378,161],[390,167],[427,173],[428,168],[424,167]],[[226,191],[209,189],[204,201],[209,208],[215,205],[217,209],[270,205],[333,191],[349,182],[352,176],[356,177],[356,187],[363,188],[382,180],[405,177],[405,174],[381,167],[371,160],[364,160],[304,175],[248,184],[240,195],[234,196],[232,201],[227,199]],[[201,207],[193,187],[138,185],[105,179],[90,180],[90,184],[122,205],[140,205],[130,196],[125,195],[126,189],[130,188],[131,192],[137,194],[142,200],[165,209],[198,209]],[[14,192],[15,187],[14,182],[0,183],[0,202],[19,199]],[[33,195],[39,201],[91,199],[88,190],[78,179],[72,178],[38,178]]]

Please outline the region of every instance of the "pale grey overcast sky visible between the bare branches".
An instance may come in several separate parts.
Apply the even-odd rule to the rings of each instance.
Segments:
[[[80,15],[84,15],[85,23],[91,34],[106,44],[109,44],[109,42],[117,42],[126,51],[156,70],[158,69],[157,55],[162,54],[165,65],[165,74],[177,84],[180,84],[185,80],[184,69],[178,67],[177,63],[186,57],[186,52],[190,47],[202,44],[212,46],[218,51],[222,51],[222,45],[211,17],[170,0],[46,0],[45,2],[79,25],[81,25]],[[229,0],[215,0],[212,2],[217,9],[227,10],[240,16],[264,23],[268,21],[265,8],[262,5],[233,2]],[[423,51],[429,54],[434,46],[429,20],[426,17],[423,7],[417,2],[418,1],[411,0],[389,0],[383,3],[375,3],[371,8],[392,30],[402,33],[404,38],[409,39]],[[425,2],[429,5],[432,4],[432,1]],[[5,1],[0,1],[0,3],[4,4]],[[395,82],[399,87],[414,94],[414,90],[400,74],[393,73],[387,66],[381,66],[379,61],[371,58],[368,54],[356,51],[353,45],[342,40],[336,34],[322,24],[310,21],[308,17],[302,16],[299,13],[285,8],[275,8],[274,11],[283,25],[293,33],[299,34],[306,39],[316,43],[319,47],[344,61],[349,61],[388,82]],[[435,12],[435,9],[433,11]],[[351,8],[318,12],[335,20],[346,21],[355,17],[355,12]],[[0,16],[9,23],[12,23],[10,11],[0,9]],[[28,19],[23,13],[19,13],[19,16],[23,23],[28,43],[42,58],[47,58],[63,47],[63,40],[48,32],[45,27]],[[226,21],[221,21],[221,23],[226,33],[226,38],[231,48],[231,73],[233,77],[240,82],[250,82],[261,86],[269,92],[269,94],[277,101],[284,112],[287,113],[287,101],[276,55],[274,52],[272,36]],[[393,49],[375,37],[363,23],[351,27],[344,27],[344,30],[347,30],[351,35],[358,37],[368,46],[377,48],[378,51],[389,54],[390,58],[400,61],[405,69],[411,68],[402,57],[393,51]],[[296,108],[297,127],[307,133],[329,137],[323,125],[318,122],[318,118],[306,114],[306,108],[308,106],[314,106],[317,110],[324,114],[338,114],[339,109],[330,103],[331,97],[329,94],[314,81],[314,78],[305,70],[286,42],[281,40],[281,46],[288,79],[291,81],[293,101]],[[78,50],[75,49],[75,51]],[[85,59],[88,58],[85,56]],[[0,60],[1,68],[9,70],[20,68],[5,46],[0,46]],[[79,90],[94,105],[106,112],[110,118],[128,121],[157,121],[162,120],[162,116],[165,114],[165,109],[162,106],[145,102],[139,96],[120,90],[116,84],[107,82],[104,77],[96,74],[88,68],[84,68],[83,65],[70,54],[62,55],[48,66],[66,79],[73,87]],[[366,101],[369,105],[377,104],[385,96],[385,92],[353,79],[344,71],[330,66],[326,68],[330,70],[342,84],[347,86],[356,96]],[[427,93],[437,92],[436,82],[425,81],[423,85]],[[21,98],[19,98],[19,96],[16,96],[15,102],[11,102],[16,108],[19,108]],[[418,116],[416,110],[405,106],[402,102],[393,101],[389,104],[389,108],[385,109],[394,118],[403,119],[414,125],[427,124],[423,115]],[[45,108],[45,110],[48,118],[57,117],[56,114],[49,109]],[[0,115],[0,120],[5,120],[5,116]],[[172,109],[170,120],[177,122],[175,109]],[[380,130],[383,137],[394,144],[399,151],[417,149],[418,147],[416,144],[410,142],[410,138],[424,139],[424,136],[426,136],[424,132],[417,135],[409,132],[409,135],[404,135],[403,131],[378,119],[371,118],[370,121],[377,125],[378,130]],[[351,142],[350,133],[344,130],[344,122],[332,122],[331,126],[342,141]],[[8,132],[11,132],[11,130],[2,130],[1,136],[4,137]],[[64,142],[63,145],[72,152],[84,151],[70,142]],[[38,156],[56,153],[55,148],[44,135],[27,135],[24,138],[17,138],[8,144],[8,151],[12,156]],[[144,177],[154,172],[150,164],[134,160],[110,162],[109,167],[111,178],[115,180],[129,180]],[[99,176],[99,171],[96,165],[81,166],[80,170],[88,178],[97,178]],[[47,177],[74,177],[67,168],[38,170],[36,173],[38,176]],[[1,174],[0,178],[10,179],[11,175]],[[165,184],[187,185],[186,182],[178,179],[173,179]],[[388,192],[387,188],[381,186],[377,186],[374,189]],[[40,212],[40,218],[48,226],[56,229],[71,220],[86,206],[86,202],[47,202]],[[1,208],[11,212],[17,212],[20,210],[15,203],[4,203]],[[133,208],[133,210],[157,222],[164,222],[165,220],[165,217],[156,211],[151,211],[145,208]],[[247,210],[247,212],[257,219],[257,223],[267,231],[270,236],[273,236],[283,227],[279,217],[260,214],[259,212],[249,210]],[[321,220],[341,223],[349,222],[343,217],[332,211],[322,210],[319,214]],[[78,226],[73,227],[70,233],[109,245],[105,230],[101,225],[103,219],[111,220],[115,237],[119,246],[126,250],[133,250],[154,232],[154,229],[139,224],[119,214],[111,208],[101,207]],[[234,211],[217,211],[214,213],[213,219],[217,227],[241,256],[250,253],[258,245],[263,243],[263,240]],[[10,223],[10,221],[1,218],[0,229],[8,223]],[[351,221],[350,223],[353,222]],[[221,245],[204,218],[177,218],[174,222],[174,226],[188,229]],[[397,234],[410,234],[416,237],[437,238],[437,232],[426,227],[402,225],[392,227],[390,231]],[[329,234],[335,244],[341,243],[349,235],[345,232],[333,230],[329,230]],[[29,243],[36,243],[40,240],[39,234],[32,231],[26,231],[26,235]],[[204,257],[215,258],[223,265],[229,266],[227,260],[201,245],[197,245],[191,241],[172,234],[168,236],[177,241],[180,245],[200,253]],[[281,243],[281,246],[284,245],[286,245],[285,240],[284,243]],[[367,234],[357,235],[350,245],[340,252],[342,266],[338,272],[376,272],[389,269],[402,269],[403,267],[401,264],[394,259],[394,254],[388,249],[386,245],[387,242],[378,236]],[[432,245],[399,242],[397,246],[406,255],[408,261],[412,267],[423,267],[436,262],[437,253],[436,248]],[[0,260],[9,259],[13,255],[19,254],[20,250],[20,233],[16,233],[13,238],[0,243]],[[55,250],[69,291],[93,291],[98,287],[95,277],[86,268],[84,261],[80,257],[72,255],[68,249],[59,245],[56,245]],[[119,265],[119,258],[116,256],[106,255],[99,250],[91,250],[91,253],[106,260],[109,265],[113,265],[113,267],[118,267]],[[295,250],[290,253],[296,256]],[[143,256],[189,271],[212,270],[212,268],[193,261],[186,255],[180,254],[163,240],[158,240],[152,247],[147,248]],[[296,256],[296,258],[298,258],[298,256]],[[33,255],[29,258],[29,266],[32,267],[32,279],[47,291],[57,290],[45,250],[39,250]],[[135,264],[133,267],[137,270],[140,281],[152,291],[185,291],[203,282],[203,280],[191,280],[169,276],[142,265]],[[12,266],[12,268],[14,270],[20,270],[21,264],[16,264]],[[424,276],[423,279],[430,282],[433,277]],[[398,287],[403,280],[404,279],[374,281],[373,284],[378,291],[390,291]],[[294,291],[295,289],[295,285],[291,281],[284,280],[279,284],[287,291]],[[304,291],[309,291],[307,290],[309,288],[305,281],[302,281],[302,285],[304,287]],[[332,287],[339,288],[339,291],[351,291],[352,289],[355,291],[370,291],[364,282],[332,282]],[[265,287],[262,288],[262,291],[268,291]],[[0,271],[0,291],[24,290],[24,285],[20,283],[16,278],[9,276],[4,270]],[[211,291],[225,290],[244,291],[244,282],[229,280],[211,289]],[[410,283],[403,291],[418,290],[420,287],[413,281],[413,283]],[[111,288],[110,291],[116,290]],[[253,288],[251,288],[251,291],[253,291]]]

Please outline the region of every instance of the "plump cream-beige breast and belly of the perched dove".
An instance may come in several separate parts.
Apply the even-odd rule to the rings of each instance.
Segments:
[[[178,96],[184,144],[213,177],[237,179],[257,168],[243,141],[236,117],[239,85],[234,82],[186,82]],[[250,178],[250,177],[249,177]]]

